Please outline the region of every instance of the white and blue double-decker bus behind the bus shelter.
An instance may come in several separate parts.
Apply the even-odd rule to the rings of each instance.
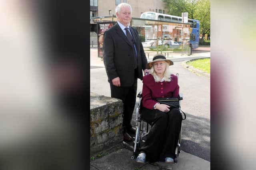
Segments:
[[[182,23],[182,17],[172,16],[168,14],[160,14],[156,12],[144,12],[141,14],[140,18]],[[196,49],[198,48],[198,44],[199,44],[199,21],[194,19],[188,19],[188,23],[191,23],[189,43],[190,43],[191,49]]]

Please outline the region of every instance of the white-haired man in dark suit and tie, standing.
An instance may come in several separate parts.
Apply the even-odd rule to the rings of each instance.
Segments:
[[[129,26],[132,7],[121,3],[116,7],[117,23],[104,33],[103,59],[110,83],[111,97],[119,98],[124,104],[124,141],[132,141],[128,133],[132,127],[132,113],[136,102],[137,79],[142,80],[147,59],[135,28]]]

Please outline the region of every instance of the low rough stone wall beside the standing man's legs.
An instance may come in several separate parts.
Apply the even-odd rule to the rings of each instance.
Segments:
[[[122,147],[122,100],[90,94],[90,155]]]

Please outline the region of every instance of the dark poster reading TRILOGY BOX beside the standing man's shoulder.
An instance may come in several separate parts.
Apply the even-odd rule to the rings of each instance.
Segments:
[[[110,29],[115,22],[104,22],[98,24],[98,57],[103,57],[102,46],[104,40],[104,32]]]

